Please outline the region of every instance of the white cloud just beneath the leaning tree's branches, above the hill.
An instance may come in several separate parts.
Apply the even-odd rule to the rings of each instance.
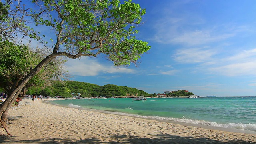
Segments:
[[[97,62],[96,59],[88,57],[82,57],[80,60],[68,60],[66,66],[70,74],[78,76],[96,76],[101,73],[134,73],[132,69],[103,65]]]

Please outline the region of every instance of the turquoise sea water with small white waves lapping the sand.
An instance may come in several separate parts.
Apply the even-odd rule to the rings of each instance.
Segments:
[[[256,131],[256,97],[147,98],[145,102],[108,98],[49,102],[126,116]]]

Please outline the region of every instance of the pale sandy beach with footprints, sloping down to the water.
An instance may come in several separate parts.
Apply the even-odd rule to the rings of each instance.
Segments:
[[[8,112],[6,136],[16,144],[255,144],[256,134],[235,133],[65,108],[41,100]]]

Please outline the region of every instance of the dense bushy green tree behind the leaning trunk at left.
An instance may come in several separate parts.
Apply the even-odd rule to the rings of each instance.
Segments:
[[[20,46],[8,41],[0,42],[0,87],[9,95],[13,88],[30,72],[30,69],[35,67],[44,58],[44,55],[38,49],[33,51],[26,45]],[[27,88],[31,86],[45,88],[50,85],[52,78],[63,78],[62,68],[64,62],[62,59],[54,59],[45,65],[22,88],[22,91],[18,95],[24,97]],[[9,103],[9,106],[12,104],[12,102]],[[5,110],[2,115],[7,115],[8,110]]]

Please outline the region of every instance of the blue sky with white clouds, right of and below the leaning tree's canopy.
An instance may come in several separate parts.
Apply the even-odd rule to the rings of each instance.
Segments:
[[[255,0],[133,0],[146,8],[138,68],[104,57],[68,60],[70,80],[198,96],[256,96]]]

